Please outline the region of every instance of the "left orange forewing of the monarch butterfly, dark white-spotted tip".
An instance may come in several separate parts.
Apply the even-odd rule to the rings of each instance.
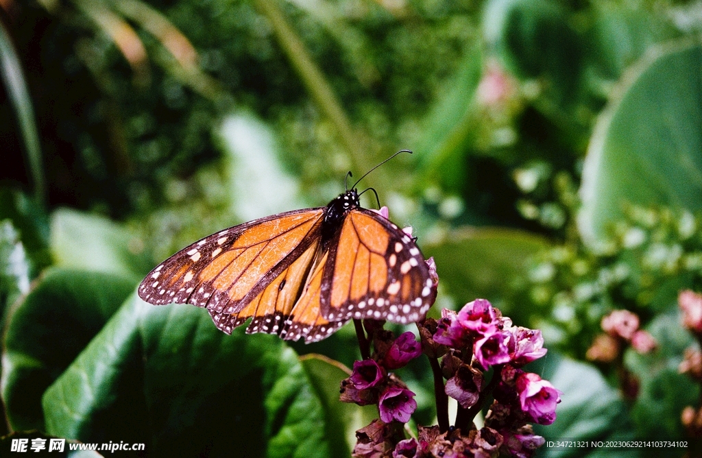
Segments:
[[[318,238],[323,211],[289,211],[205,237],[154,268],[139,296],[157,305],[241,310]]]

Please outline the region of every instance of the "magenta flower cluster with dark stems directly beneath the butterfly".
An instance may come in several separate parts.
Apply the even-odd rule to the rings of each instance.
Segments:
[[[562,394],[537,374],[522,367],[546,353],[538,330],[512,326],[509,318],[484,299],[457,313],[418,324],[421,343],[411,333],[397,339],[373,339],[376,355],[356,362],[342,382],[341,399],[377,403],[380,419],[357,431],[354,457],[530,457],[544,439],[529,422],[552,424]],[[417,438],[404,438],[398,422],[409,421],[416,408],[413,393],[388,369],[406,364],[419,353],[430,359],[435,373],[438,426],[418,428]],[[440,362],[439,362],[440,360]],[[486,381],[486,372],[493,375]],[[444,379],[446,383],[444,384]],[[455,424],[449,426],[447,396],[458,401]],[[485,426],[472,420],[491,399]]]

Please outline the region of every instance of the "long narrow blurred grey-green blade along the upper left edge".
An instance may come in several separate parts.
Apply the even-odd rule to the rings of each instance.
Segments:
[[[34,122],[32,112],[32,99],[27,90],[27,81],[22,75],[22,65],[15,52],[10,34],[4,22],[0,20],[0,75],[10,98],[10,103],[15,108],[22,141],[25,144],[29,171],[34,184],[34,199],[37,203],[46,203],[46,182],[44,168],[41,160],[41,142],[37,124]]]

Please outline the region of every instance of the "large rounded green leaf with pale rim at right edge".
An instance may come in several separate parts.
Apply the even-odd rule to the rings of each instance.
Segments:
[[[702,209],[702,46],[651,51],[600,117],[583,167],[578,228],[598,248],[627,203]]]

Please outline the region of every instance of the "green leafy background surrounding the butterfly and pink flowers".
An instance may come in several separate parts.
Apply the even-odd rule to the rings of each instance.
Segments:
[[[229,337],[129,292],[197,238],[324,205],[347,171],[409,148],[362,184],[435,256],[430,313],[482,296],[543,329],[564,402],[539,433],[682,438],[699,395],[677,374],[676,298],[702,289],[701,17],[666,0],[2,2],[7,431],[155,456],[347,453],[369,415],[333,394],[353,329]],[[625,355],[633,402],[584,361],[618,308],[659,342]],[[296,358],[311,352],[326,356]],[[425,362],[401,376],[432,422]]]

